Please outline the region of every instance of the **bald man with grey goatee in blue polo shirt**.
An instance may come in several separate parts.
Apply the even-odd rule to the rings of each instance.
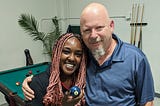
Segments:
[[[141,50],[113,33],[114,21],[107,9],[99,3],[87,5],[81,13],[80,29],[89,49],[86,106],[153,106],[148,60]]]

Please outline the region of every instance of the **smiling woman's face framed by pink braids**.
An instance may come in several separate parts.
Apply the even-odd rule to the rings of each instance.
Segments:
[[[69,38],[62,49],[60,67],[64,74],[73,74],[80,65],[82,59],[82,46],[76,37]]]

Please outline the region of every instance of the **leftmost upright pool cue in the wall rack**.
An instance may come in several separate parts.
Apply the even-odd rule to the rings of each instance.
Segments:
[[[133,34],[134,34],[134,4],[132,5],[132,18],[131,18],[131,38],[130,43],[133,44]]]

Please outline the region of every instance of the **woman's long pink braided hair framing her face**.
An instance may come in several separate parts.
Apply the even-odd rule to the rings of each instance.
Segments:
[[[86,53],[85,53],[85,46],[84,43],[78,34],[73,33],[66,33],[61,35],[53,47],[52,52],[52,65],[51,65],[51,72],[50,72],[50,79],[49,79],[49,85],[47,87],[47,93],[44,96],[43,103],[45,105],[62,105],[62,99],[64,97],[63,91],[62,91],[62,85],[60,80],[60,57],[62,53],[63,46],[65,42],[71,38],[76,37],[79,39],[80,43],[82,44],[82,59],[79,66],[78,76],[75,80],[75,85],[78,86],[80,89],[83,89],[85,87],[85,78],[86,78]]]

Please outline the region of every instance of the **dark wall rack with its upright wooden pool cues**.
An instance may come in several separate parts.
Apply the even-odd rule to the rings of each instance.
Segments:
[[[144,4],[133,4],[131,14],[131,38],[130,43],[142,50],[142,27],[147,25],[143,23]]]

